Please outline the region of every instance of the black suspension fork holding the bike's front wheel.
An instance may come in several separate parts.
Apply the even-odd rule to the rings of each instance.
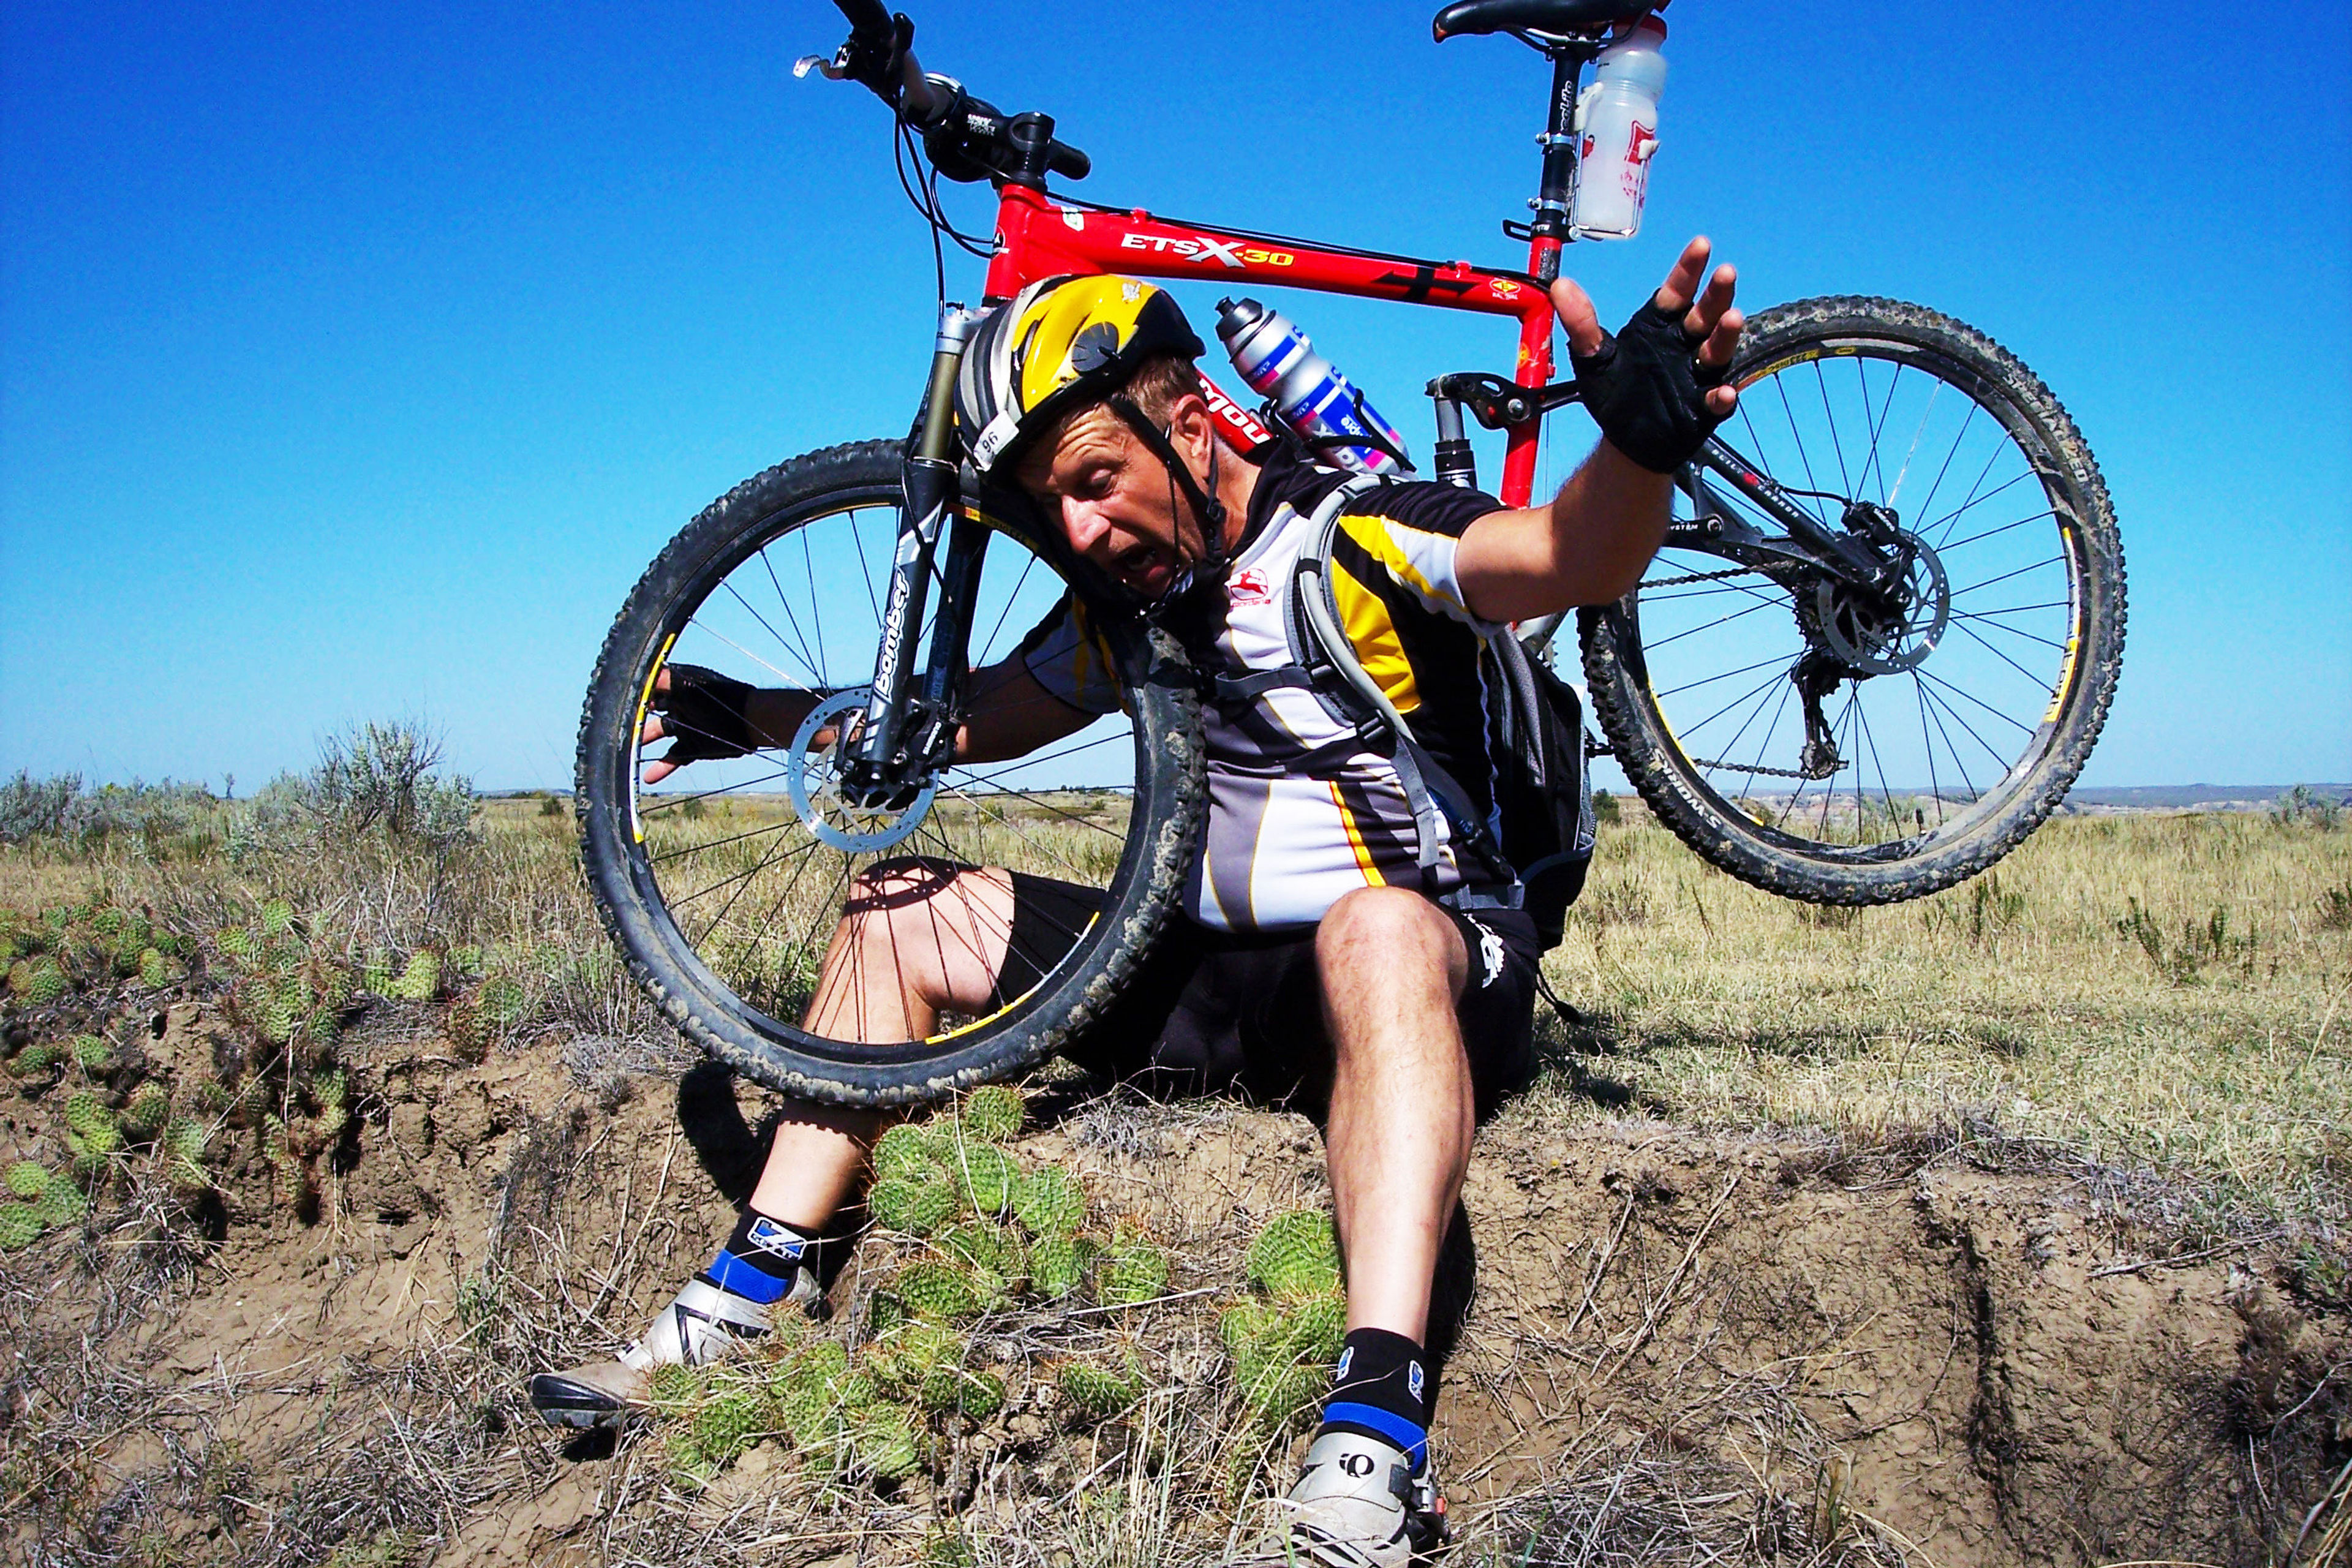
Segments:
[[[929,769],[953,743],[955,708],[971,642],[971,592],[988,548],[985,524],[964,517],[960,454],[955,447],[955,371],[964,360],[976,315],[943,306],[931,350],[915,440],[906,458],[906,512],[891,550],[889,599],[882,607],[882,646],[866,696],[866,717],[844,745],[842,783],[861,804],[882,804],[903,792],[915,771]],[[950,524],[953,520],[953,524]],[[931,592],[941,536],[948,557],[938,567],[941,602],[922,677],[915,677],[915,637]]]

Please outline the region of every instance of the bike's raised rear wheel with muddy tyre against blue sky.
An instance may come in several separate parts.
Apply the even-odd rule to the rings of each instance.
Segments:
[[[1952,886],[2042,825],[2105,724],[2124,555],[2098,465],[2030,369],[1919,306],[1764,310],[1731,381],[1722,440],[1903,581],[1790,564],[1788,529],[1705,475],[1642,583],[1581,614],[1595,715],[1743,882],[1842,905]]]

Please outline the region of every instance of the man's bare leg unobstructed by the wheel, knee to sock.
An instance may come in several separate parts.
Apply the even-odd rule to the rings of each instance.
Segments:
[[[1324,914],[1315,964],[1336,1051],[1327,1147],[1348,1328],[1421,1345],[1477,1121],[1454,1018],[1470,954],[1421,893],[1364,889]]]

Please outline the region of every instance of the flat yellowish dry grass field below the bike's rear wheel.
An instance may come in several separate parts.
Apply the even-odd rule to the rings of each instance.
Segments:
[[[1858,1138],[1992,1121],[2270,1215],[2343,1213],[2352,931],[2328,889],[2352,832],[2058,818],[1971,884],[1828,912],[1625,816],[1545,966],[1592,1016],[1571,1044],[1604,1053],[1604,1098]]]

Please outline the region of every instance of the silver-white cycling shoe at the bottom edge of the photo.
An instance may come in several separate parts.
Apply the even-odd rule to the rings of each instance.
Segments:
[[[1446,1500],[1395,1443],[1324,1432],[1256,1556],[1230,1568],[1406,1568],[1446,1542]]]

